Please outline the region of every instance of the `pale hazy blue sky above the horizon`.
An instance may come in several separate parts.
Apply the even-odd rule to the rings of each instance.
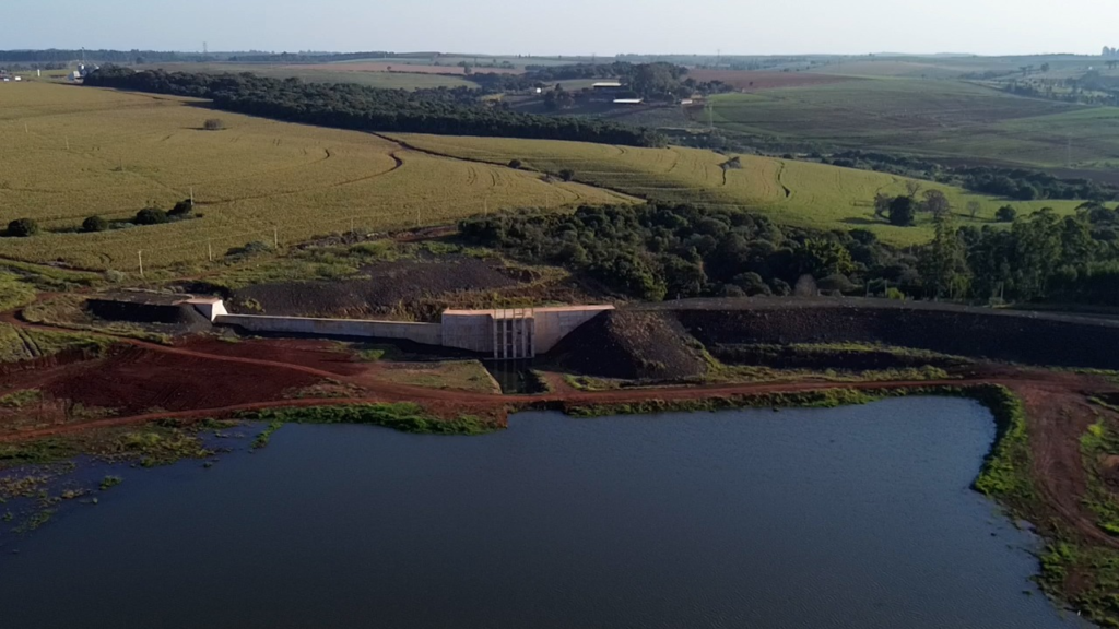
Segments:
[[[1119,47],[1116,0],[3,0],[0,49],[495,55],[1035,53]],[[18,28],[11,28],[18,25]]]

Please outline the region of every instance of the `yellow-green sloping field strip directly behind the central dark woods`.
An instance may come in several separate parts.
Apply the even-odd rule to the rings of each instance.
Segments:
[[[865,227],[884,241],[908,245],[932,237],[929,218],[916,227],[895,227],[874,218],[876,193],[901,195],[908,179],[803,161],[740,156],[741,169],[722,165],[727,156],[702,149],[671,147],[640,149],[581,142],[453,138],[397,134],[408,145],[466,159],[506,163],[519,159],[527,167],[558,171],[571,169],[579,181],[627,194],[681,203],[735,205],[764,212],[780,223],[801,227]],[[950,186],[922,182],[923,189],[943,191],[961,225],[989,225],[995,212],[1008,203],[1019,213],[1042,207],[1072,212],[1079,201],[1007,201]],[[969,201],[981,209],[976,220],[963,215]]]

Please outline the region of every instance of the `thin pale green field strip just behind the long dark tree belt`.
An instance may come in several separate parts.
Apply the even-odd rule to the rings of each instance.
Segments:
[[[392,67],[393,72],[388,68]],[[407,68],[399,72],[398,68]],[[167,72],[242,73],[251,72],[270,78],[300,78],[308,83],[357,83],[385,90],[423,90],[434,87],[478,87],[467,79],[461,67],[408,66],[403,64],[321,64],[321,65],[263,65],[263,64],[152,64],[137,69]],[[439,71],[435,73],[433,71]],[[459,75],[459,76],[452,76]]]

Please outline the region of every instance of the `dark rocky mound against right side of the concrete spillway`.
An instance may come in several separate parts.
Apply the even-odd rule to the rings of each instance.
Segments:
[[[591,376],[677,381],[706,372],[696,341],[669,314],[611,310],[564,338],[552,356]]]

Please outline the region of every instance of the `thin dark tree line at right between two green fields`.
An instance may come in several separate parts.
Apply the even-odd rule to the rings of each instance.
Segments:
[[[1119,199],[1119,187],[1102,185],[1088,179],[1061,179],[1047,172],[1025,168],[998,168],[994,166],[946,167],[933,161],[905,156],[857,150],[841,151],[830,157],[821,157],[820,161],[845,168],[861,168],[864,170],[876,170],[904,177],[928,179],[941,184],[960,186],[976,193],[1017,200]]]

